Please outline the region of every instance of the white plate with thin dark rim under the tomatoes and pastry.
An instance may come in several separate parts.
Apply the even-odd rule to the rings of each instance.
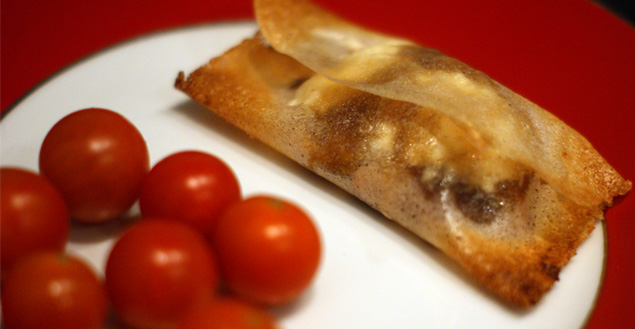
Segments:
[[[530,310],[514,310],[427,243],[174,89],[179,71],[193,71],[255,30],[253,23],[240,22],[165,31],[72,65],[45,81],[2,120],[2,166],[37,171],[40,144],[55,122],[82,108],[108,108],[137,126],[152,163],[184,149],[207,151],[235,170],[245,195],[288,198],[312,215],[323,238],[323,259],[306,294],[273,310],[284,328],[584,325],[602,281],[602,224],[543,301]],[[108,251],[123,227],[121,222],[74,225],[68,249],[103,273]]]

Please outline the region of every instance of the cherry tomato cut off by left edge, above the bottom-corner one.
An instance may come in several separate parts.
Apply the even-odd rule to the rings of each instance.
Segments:
[[[2,272],[29,253],[63,251],[70,225],[66,204],[55,186],[43,176],[18,168],[2,168],[0,186]]]

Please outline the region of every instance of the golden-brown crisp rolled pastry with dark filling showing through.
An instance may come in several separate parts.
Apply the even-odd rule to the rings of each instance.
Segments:
[[[176,87],[537,303],[623,179],[575,130],[455,59],[306,0],[256,0],[260,31]]]

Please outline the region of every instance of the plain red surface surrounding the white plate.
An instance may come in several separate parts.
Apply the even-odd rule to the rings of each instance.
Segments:
[[[599,5],[316,2],[488,73],[580,131],[635,180],[635,29]],[[249,0],[4,0],[1,10],[3,114],[49,76],[104,47],[163,29],[253,17]],[[629,195],[607,213],[605,283],[587,328],[625,328],[635,319],[634,199]]]

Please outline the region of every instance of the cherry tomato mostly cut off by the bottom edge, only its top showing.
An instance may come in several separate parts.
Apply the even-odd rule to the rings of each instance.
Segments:
[[[268,312],[233,298],[219,298],[194,306],[183,316],[178,329],[275,329]]]

